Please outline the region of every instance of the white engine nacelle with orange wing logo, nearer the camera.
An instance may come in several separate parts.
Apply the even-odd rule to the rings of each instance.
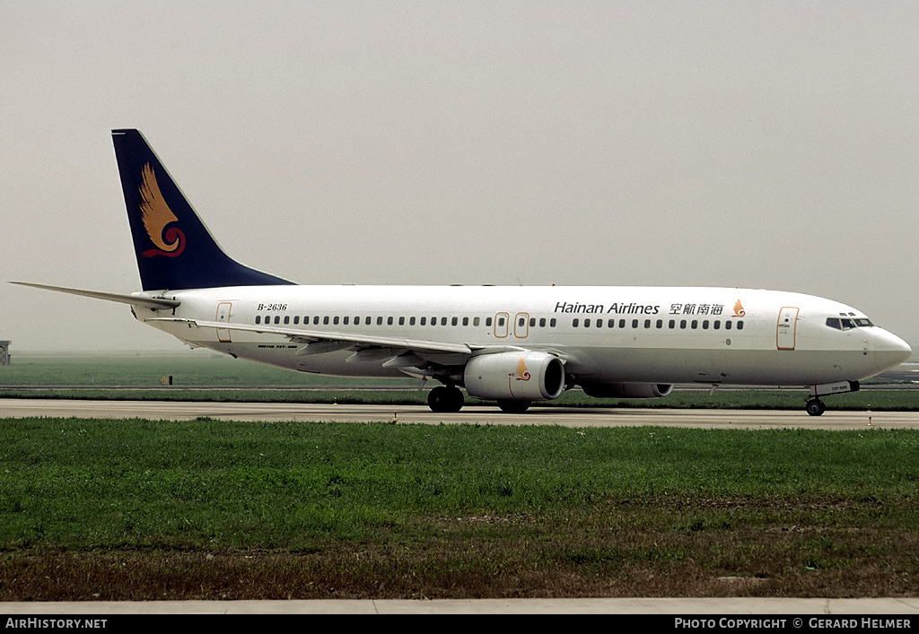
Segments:
[[[470,396],[497,401],[548,401],[565,387],[559,357],[545,352],[499,352],[472,357],[463,370]]]

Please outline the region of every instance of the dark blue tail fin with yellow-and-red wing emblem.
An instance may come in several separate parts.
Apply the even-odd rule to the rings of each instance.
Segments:
[[[138,130],[112,130],[144,290],[292,284],[221,251]]]

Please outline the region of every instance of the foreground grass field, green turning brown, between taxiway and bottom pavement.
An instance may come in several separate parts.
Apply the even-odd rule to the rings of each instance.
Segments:
[[[915,596],[919,435],[0,421],[0,600]]]

